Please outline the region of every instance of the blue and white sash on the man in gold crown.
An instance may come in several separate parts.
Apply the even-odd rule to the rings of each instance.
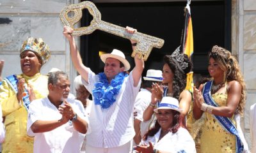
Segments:
[[[6,80],[6,82],[12,87],[15,94],[17,94],[17,92],[18,92],[17,83],[19,81],[17,76],[16,75],[10,75],[9,77],[4,78],[4,80]],[[29,94],[28,94],[28,90],[26,88],[24,88],[24,92],[26,93],[26,96],[22,97],[23,105],[26,108],[26,110],[28,111],[29,104],[30,104]]]

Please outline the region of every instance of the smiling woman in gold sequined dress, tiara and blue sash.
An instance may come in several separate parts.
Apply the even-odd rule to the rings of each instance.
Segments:
[[[243,115],[245,84],[237,60],[225,48],[214,46],[209,52],[208,71],[213,80],[193,93],[194,117],[204,117],[200,151],[242,152],[234,115]]]

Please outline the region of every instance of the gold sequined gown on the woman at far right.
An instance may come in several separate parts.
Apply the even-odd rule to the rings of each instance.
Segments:
[[[212,94],[212,99],[218,103],[219,106],[227,105],[227,94]],[[231,118],[234,124],[234,116]],[[205,124],[202,126],[201,135],[202,153],[211,152],[236,152],[236,136],[225,131],[212,116],[211,113],[205,112]]]

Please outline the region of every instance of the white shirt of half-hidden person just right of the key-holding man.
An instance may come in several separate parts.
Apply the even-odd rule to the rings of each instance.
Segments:
[[[140,123],[140,135],[141,138],[147,133],[148,129],[150,128],[150,125],[152,122],[154,122],[155,115],[152,115],[151,119],[148,121],[143,121],[143,112],[146,110],[148,105],[151,102],[151,92],[148,91],[147,89],[140,89],[140,92],[136,96],[135,103],[134,103],[134,108],[135,111],[137,112],[137,116],[135,119],[138,119],[141,121]]]

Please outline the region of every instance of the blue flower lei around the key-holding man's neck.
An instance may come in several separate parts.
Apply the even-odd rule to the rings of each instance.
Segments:
[[[95,88],[92,91],[95,105],[100,105],[101,108],[106,109],[115,103],[115,96],[120,91],[124,78],[127,76],[127,73],[120,72],[111,80],[110,84],[108,84],[105,73],[99,73],[100,80],[94,84]]]

